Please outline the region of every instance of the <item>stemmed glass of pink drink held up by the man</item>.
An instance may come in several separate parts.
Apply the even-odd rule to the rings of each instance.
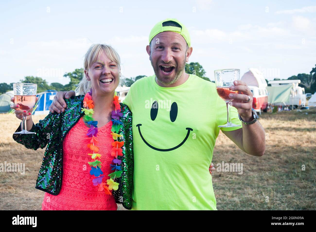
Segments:
[[[229,117],[229,104],[228,102],[233,100],[229,98],[229,94],[238,94],[238,91],[230,90],[229,87],[234,85],[234,81],[240,79],[240,70],[239,69],[219,69],[214,71],[215,75],[215,84],[217,94],[226,102],[227,108],[227,123],[225,125],[219,125],[218,127],[235,127],[241,126],[236,125],[230,122]]]

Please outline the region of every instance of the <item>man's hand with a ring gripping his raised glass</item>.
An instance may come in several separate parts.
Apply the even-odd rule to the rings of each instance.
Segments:
[[[234,85],[230,87],[231,90],[238,91],[238,94],[229,94],[229,98],[233,99],[229,101],[229,105],[237,108],[238,114],[245,122],[253,120],[251,112],[252,108],[252,92],[250,91],[247,84],[243,81],[234,81]],[[250,98],[249,102],[248,99]]]

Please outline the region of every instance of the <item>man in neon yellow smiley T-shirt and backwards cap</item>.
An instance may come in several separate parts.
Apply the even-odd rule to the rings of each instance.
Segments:
[[[157,23],[146,46],[155,75],[136,81],[123,101],[133,113],[132,209],[216,210],[207,168],[219,129],[247,154],[264,154],[264,129],[252,110],[252,93],[246,83],[236,81],[230,87],[239,91],[230,95],[234,99],[230,101],[231,121],[242,127],[219,128],[227,119],[226,104],[214,83],[185,73],[192,50],[181,22]],[[53,111],[65,105],[64,93],[58,96]]]

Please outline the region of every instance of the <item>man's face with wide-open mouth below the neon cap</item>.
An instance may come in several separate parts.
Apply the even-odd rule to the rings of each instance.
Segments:
[[[146,49],[159,82],[167,86],[179,80],[191,55],[186,48],[182,35],[171,31],[161,32],[151,40]]]

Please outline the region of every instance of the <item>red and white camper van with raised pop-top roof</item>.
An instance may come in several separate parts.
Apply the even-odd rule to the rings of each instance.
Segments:
[[[262,72],[258,69],[250,68],[241,80],[246,82],[252,92],[252,108],[259,114],[261,111],[266,112],[268,106],[268,91],[266,89],[267,82],[264,79]]]

